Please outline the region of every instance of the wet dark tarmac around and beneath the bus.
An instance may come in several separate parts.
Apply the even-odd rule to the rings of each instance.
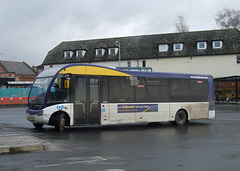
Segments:
[[[239,170],[240,105],[216,105],[213,120],[38,131],[24,108],[0,109],[0,135],[34,136],[45,151],[1,155],[1,170]]]

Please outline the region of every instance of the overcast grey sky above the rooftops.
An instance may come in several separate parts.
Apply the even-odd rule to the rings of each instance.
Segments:
[[[62,41],[218,29],[215,14],[239,0],[0,0],[0,60],[42,64]],[[239,7],[239,8],[238,8]]]

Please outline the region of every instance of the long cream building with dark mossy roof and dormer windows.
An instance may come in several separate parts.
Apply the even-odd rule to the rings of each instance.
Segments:
[[[235,99],[240,98],[238,29],[68,41],[50,50],[43,61],[45,68],[67,63],[151,67],[156,72],[211,74],[216,80],[231,78],[228,82],[234,86],[228,91],[235,93]],[[224,87],[223,83],[215,88],[222,92],[220,85]]]

